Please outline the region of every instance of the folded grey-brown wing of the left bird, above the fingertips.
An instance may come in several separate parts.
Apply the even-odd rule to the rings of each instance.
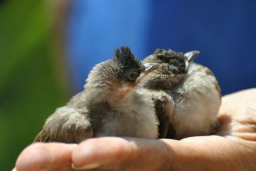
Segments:
[[[79,143],[92,136],[93,127],[86,112],[61,107],[47,119],[34,142]]]

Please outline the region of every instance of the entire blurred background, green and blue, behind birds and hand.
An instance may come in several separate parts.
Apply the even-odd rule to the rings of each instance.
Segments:
[[[200,50],[222,93],[256,87],[256,1],[0,1],[0,170],[11,170],[92,67],[126,45]]]

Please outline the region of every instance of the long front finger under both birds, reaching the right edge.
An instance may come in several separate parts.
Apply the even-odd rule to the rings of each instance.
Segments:
[[[237,166],[246,170],[255,167],[254,161],[246,158],[255,158],[253,147],[255,144],[240,138],[220,136],[180,141],[93,138],[75,149],[72,160],[77,168],[94,166],[97,170],[236,170]]]

